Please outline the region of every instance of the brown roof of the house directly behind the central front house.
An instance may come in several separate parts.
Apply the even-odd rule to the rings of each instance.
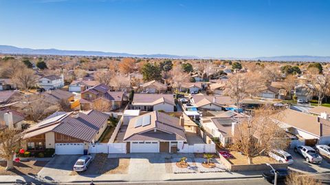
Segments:
[[[162,102],[175,105],[173,94],[134,94],[132,105],[157,105]]]

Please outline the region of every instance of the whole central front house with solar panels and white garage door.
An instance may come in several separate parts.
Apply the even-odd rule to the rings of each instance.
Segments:
[[[177,153],[187,139],[179,118],[152,111],[129,121],[123,141],[128,153]]]

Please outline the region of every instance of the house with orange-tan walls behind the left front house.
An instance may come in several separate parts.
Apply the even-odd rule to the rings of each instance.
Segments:
[[[110,111],[122,107],[124,92],[110,91],[110,87],[101,83],[81,93],[80,107],[83,110],[100,109]]]

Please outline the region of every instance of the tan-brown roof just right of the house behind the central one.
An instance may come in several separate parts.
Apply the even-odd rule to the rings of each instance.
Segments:
[[[215,99],[214,99],[215,98]],[[234,101],[230,96],[192,96],[197,107],[202,107],[213,103],[215,105],[234,105]],[[215,102],[213,102],[215,100]]]

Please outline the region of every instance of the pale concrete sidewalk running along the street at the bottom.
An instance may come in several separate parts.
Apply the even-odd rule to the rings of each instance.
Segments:
[[[164,173],[161,177],[152,177],[148,174],[144,175],[129,175],[129,174],[111,174],[111,175],[58,175],[38,178],[29,175],[1,175],[0,184],[14,183],[35,183],[35,184],[65,184],[65,183],[87,183],[91,182],[155,182],[155,181],[181,181],[181,180],[196,180],[196,179],[248,179],[260,178],[260,171],[252,172],[221,172],[221,173]]]

